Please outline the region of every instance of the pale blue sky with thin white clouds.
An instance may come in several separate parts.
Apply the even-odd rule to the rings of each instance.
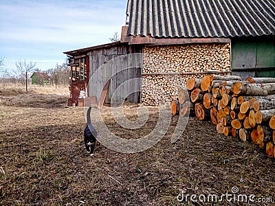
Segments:
[[[63,52],[109,43],[120,35],[126,0],[1,0],[0,57],[5,67],[17,60],[42,70],[65,62]]]

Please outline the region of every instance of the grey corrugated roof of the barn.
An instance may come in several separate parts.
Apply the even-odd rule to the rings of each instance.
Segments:
[[[234,37],[275,34],[275,0],[129,0],[128,34]]]

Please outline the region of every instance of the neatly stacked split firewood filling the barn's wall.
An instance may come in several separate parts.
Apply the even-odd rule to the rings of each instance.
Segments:
[[[177,89],[190,78],[217,71],[230,73],[230,44],[145,46],[142,69],[142,104],[170,104]],[[180,82],[180,84],[179,84]]]

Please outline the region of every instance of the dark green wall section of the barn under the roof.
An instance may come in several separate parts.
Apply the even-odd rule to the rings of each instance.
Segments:
[[[232,73],[248,77],[275,77],[275,37],[232,39]]]

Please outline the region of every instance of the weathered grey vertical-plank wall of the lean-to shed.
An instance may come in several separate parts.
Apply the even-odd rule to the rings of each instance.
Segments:
[[[121,88],[120,92],[115,93],[115,90],[126,80],[132,78],[141,78],[142,72],[142,58],[130,58],[124,56],[126,54],[141,53],[142,48],[133,45],[118,45],[109,48],[96,49],[89,52],[89,76],[100,67],[105,67],[100,73],[100,76],[95,81],[98,83],[104,83],[103,81],[110,75],[110,73],[116,73],[120,68],[129,68],[119,73],[116,73],[111,77],[109,84],[109,91],[107,97],[105,98],[105,103],[110,103],[111,98],[113,98],[113,103],[121,104],[125,100],[126,93],[131,89],[140,90],[141,80],[135,81],[134,84],[126,83]],[[120,56],[120,58],[118,58]],[[110,61],[111,60],[111,61]],[[133,67],[133,65],[139,65],[140,67]],[[100,88],[101,84],[94,84],[92,86],[89,84],[89,95],[93,95],[93,91],[102,90]],[[114,95],[115,93],[115,95]],[[133,93],[126,98],[128,102],[140,102],[140,92]]]

